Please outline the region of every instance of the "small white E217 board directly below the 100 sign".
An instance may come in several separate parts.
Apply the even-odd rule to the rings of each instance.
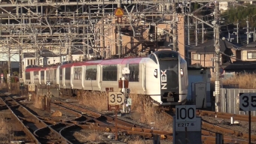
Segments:
[[[175,131],[201,131],[201,118],[195,118],[194,122],[177,122],[175,121]]]

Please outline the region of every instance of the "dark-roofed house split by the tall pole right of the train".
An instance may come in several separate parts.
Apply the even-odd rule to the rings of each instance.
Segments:
[[[221,65],[226,62],[233,62],[233,59],[236,59],[236,50],[239,48],[239,44],[230,43],[225,38],[221,38],[220,42],[220,51],[221,51]],[[188,50],[190,55],[190,65],[201,65],[203,67],[215,67],[215,46],[214,40],[208,40],[205,43],[202,43],[194,48]],[[214,69],[212,69],[214,72]]]

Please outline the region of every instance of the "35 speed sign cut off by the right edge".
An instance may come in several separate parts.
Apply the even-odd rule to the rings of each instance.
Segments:
[[[239,110],[256,110],[256,93],[239,93]]]

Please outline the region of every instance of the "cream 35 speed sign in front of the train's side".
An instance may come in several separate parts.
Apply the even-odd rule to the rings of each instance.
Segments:
[[[120,92],[108,92],[108,104],[120,105],[123,104],[123,94]]]

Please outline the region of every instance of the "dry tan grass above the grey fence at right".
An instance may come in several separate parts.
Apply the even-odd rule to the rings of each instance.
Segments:
[[[214,85],[214,79],[211,80]],[[256,89],[256,74],[239,74],[234,77],[222,80],[223,85],[234,85],[238,84],[239,89]]]

